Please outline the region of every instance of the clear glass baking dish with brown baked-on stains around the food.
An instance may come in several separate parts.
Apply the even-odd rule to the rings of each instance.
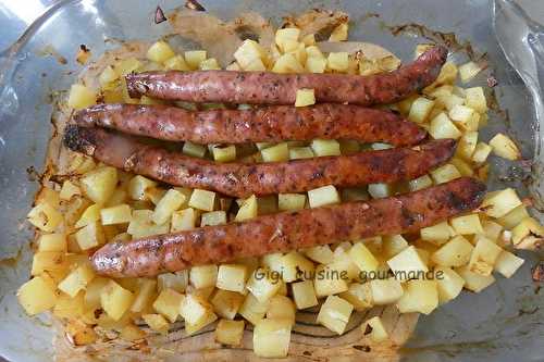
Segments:
[[[182,5],[170,0],[159,4],[165,12]],[[404,60],[411,59],[417,43],[437,39],[449,43],[457,61],[467,60],[467,50],[473,50],[475,57],[485,53],[486,73],[492,73],[498,85],[493,88],[496,104],[483,137],[507,132],[526,159],[540,158],[536,152],[542,140],[531,93],[497,43],[490,1],[209,0],[202,4],[223,18],[256,11],[275,23],[281,16],[312,8],[343,10],[350,15],[351,39],[375,42]],[[9,360],[52,359],[51,322],[47,317],[27,317],[15,297],[29,274],[33,232],[25,216],[38,187],[36,178],[42,171],[52,132],[52,95],[74,82],[81,70],[75,55],[82,43],[98,55],[115,47],[111,40],[154,40],[171,32],[168,23],[153,23],[156,7],[156,2],[147,0],[60,1],[1,54],[0,355]],[[473,83],[486,85],[486,77],[480,76]],[[526,176],[531,176],[527,167],[493,159],[490,187],[514,186],[527,195],[522,182]],[[543,175],[532,176],[537,182]],[[526,264],[511,279],[498,278],[479,295],[465,292],[432,315],[421,317],[416,334],[401,349],[403,355],[415,361],[542,361],[544,291],[535,287],[530,274],[539,255],[522,257]]]

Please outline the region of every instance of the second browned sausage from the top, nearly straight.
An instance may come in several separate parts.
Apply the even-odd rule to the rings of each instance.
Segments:
[[[393,112],[351,104],[272,105],[202,112],[168,105],[99,104],[75,113],[73,118],[81,125],[196,143],[324,138],[408,146],[419,143],[425,137],[423,128]]]

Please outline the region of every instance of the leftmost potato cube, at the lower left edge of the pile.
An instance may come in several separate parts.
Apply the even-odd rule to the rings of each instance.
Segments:
[[[46,277],[36,276],[17,290],[18,303],[28,315],[45,312],[57,303],[54,284]]]

